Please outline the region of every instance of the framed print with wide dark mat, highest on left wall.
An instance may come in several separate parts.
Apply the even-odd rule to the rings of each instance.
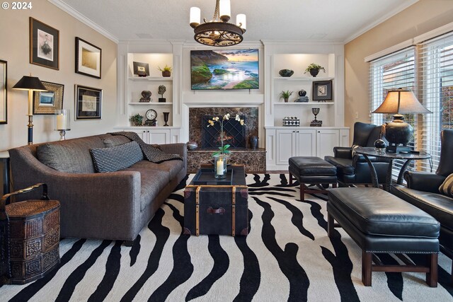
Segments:
[[[30,17],[30,64],[59,70],[59,30]]]

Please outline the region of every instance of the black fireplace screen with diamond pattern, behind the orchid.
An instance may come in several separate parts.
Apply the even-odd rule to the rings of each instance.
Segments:
[[[222,119],[222,115],[214,115]],[[215,122],[214,126],[207,127],[208,120],[212,115],[202,117],[202,148],[217,148],[222,146],[220,135],[220,122]],[[245,121],[245,117],[241,116]],[[246,127],[242,126],[239,121],[231,118],[224,121],[224,145],[229,144],[230,148],[246,148]]]

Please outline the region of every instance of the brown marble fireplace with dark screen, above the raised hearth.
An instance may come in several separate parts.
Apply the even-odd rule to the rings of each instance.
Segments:
[[[219,122],[215,122],[214,127],[206,127],[209,124],[207,121],[212,120],[212,117],[222,118],[229,113],[231,117],[239,115],[244,120],[243,126],[238,121],[231,119],[224,123],[225,132],[233,131],[233,135],[226,134],[229,138],[224,141],[224,144],[230,144],[230,149],[250,148],[250,137],[258,137],[258,108],[189,108],[189,141],[197,142],[199,149],[217,149],[221,146],[219,130]],[[227,124],[229,126],[227,126]],[[232,129],[226,129],[230,127]],[[204,134],[205,130],[209,131]],[[212,132],[211,132],[212,131]]]

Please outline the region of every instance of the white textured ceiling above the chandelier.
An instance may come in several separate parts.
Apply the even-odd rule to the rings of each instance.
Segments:
[[[50,0],[76,11],[116,40],[189,40],[191,6],[208,21],[215,0]],[[347,42],[418,0],[231,0],[231,21],[247,16],[244,41]]]

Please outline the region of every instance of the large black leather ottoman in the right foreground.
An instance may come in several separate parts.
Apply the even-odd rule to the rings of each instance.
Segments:
[[[328,192],[328,236],[334,219],[362,249],[362,282],[371,286],[372,272],[425,272],[437,286],[440,223],[432,216],[378,188],[341,187]],[[374,253],[395,253],[406,265],[382,265]],[[400,254],[426,254],[427,265],[414,265]],[[372,264],[374,260],[375,264]]]

